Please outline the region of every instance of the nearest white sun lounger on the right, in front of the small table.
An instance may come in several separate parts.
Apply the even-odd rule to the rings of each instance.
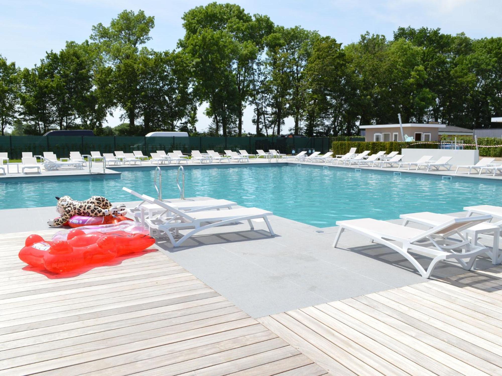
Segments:
[[[366,236],[374,243],[387,246],[405,257],[424,278],[429,278],[439,261],[458,260],[462,268],[469,270],[474,265],[476,257],[486,252],[486,247],[470,244],[461,231],[490,219],[490,216],[470,218],[452,218],[448,222],[429,230],[418,230],[411,227],[396,225],[386,221],[363,218],[349,221],[338,221],[339,227],[333,247],[336,247],[340,235],[345,230]],[[457,235],[460,240],[451,239]],[[455,250],[465,250],[456,252]],[[411,253],[432,258],[429,267],[425,269]],[[464,261],[467,259],[467,262]]]

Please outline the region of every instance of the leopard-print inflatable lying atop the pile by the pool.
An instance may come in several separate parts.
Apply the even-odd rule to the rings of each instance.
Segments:
[[[121,204],[114,207],[101,196],[92,196],[88,200],[75,201],[69,196],[56,197],[58,204],[56,211],[60,217],[49,220],[47,224],[51,227],[64,225],[73,216],[104,217],[111,215],[125,215],[126,206]]]

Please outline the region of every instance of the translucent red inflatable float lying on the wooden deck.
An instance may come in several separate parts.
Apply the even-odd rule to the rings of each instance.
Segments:
[[[30,235],[19,258],[32,266],[43,267],[53,273],[67,273],[83,266],[103,263],[117,256],[143,251],[155,243],[145,234],[124,231],[106,234],[85,234],[72,230],[67,241],[49,242],[40,235]]]

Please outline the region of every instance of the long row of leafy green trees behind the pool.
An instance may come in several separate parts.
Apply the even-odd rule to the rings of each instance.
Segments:
[[[243,134],[247,105],[257,135],[280,134],[286,118],[296,135],[351,136],[359,124],[396,123],[398,113],[403,122],[467,128],[502,114],[500,37],[408,27],[392,40],[366,32],[342,48],[332,37],[215,2],[182,20],[175,51],[147,48],[154,17],[126,10],[94,26],[91,42],[67,42],[31,69],[0,57],[2,134],[16,119],[16,134],[112,134],[105,122],[117,107],[131,124],[121,134],[197,134],[203,103],[212,119],[206,133],[224,136]]]

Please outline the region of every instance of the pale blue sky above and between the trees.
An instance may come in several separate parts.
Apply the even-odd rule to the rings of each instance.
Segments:
[[[0,54],[21,67],[32,67],[46,51],[62,49],[66,41],[83,42],[91,27],[108,25],[124,9],[142,9],[155,16],[155,28],[148,47],[172,50],[183,37],[181,17],[203,1],[142,0],[0,0]],[[233,1],[246,12],[266,14],[278,25],[302,26],[329,35],[343,44],[355,42],[360,34],[383,34],[392,39],[399,26],[441,28],[443,32],[464,32],[471,38],[502,36],[500,0],[320,0],[320,1]],[[119,123],[118,115],[109,118]],[[244,130],[253,131],[252,110],[246,109]],[[198,129],[209,120],[199,111]],[[288,125],[289,122],[287,122]]]

